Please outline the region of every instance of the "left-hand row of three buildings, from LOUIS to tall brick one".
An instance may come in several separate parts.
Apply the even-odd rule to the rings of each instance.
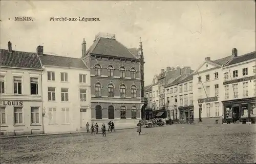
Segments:
[[[8,42],[0,57],[2,135],[80,131],[87,122],[110,120],[126,127],[140,119],[141,42],[128,49],[99,33],[88,50],[83,40],[81,58],[45,54],[43,46],[16,51]]]

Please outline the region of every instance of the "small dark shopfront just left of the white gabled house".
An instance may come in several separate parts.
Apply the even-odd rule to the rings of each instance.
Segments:
[[[180,124],[194,124],[194,105],[178,107],[180,112]]]

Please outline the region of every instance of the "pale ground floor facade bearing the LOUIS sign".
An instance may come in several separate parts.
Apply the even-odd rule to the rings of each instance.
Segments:
[[[8,100],[4,96],[1,99],[1,135],[44,133],[41,100]]]

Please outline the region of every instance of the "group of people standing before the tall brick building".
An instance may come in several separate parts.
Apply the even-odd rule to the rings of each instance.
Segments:
[[[108,123],[108,126],[109,126],[108,132],[112,132],[113,130],[115,131],[115,124],[114,124],[114,122],[110,121]],[[90,127],[90,124],[87,122],[86,130],[87,130],[88,133],[90,132],[90,128],[89,127]],[[96,123],[95,125],[93,125],[93,123],[92,123],[91,134],[98,134],[98,130],[99,130],[98,123]],[[102,132],[102,136],[106,136],[106,126],[105,126],[104,123],[101,125],[101,132]]]

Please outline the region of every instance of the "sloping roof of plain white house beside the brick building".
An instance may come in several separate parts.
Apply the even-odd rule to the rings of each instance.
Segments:
[[[42,65],[89,69],[81,59],[44,54],[39,56]]]

